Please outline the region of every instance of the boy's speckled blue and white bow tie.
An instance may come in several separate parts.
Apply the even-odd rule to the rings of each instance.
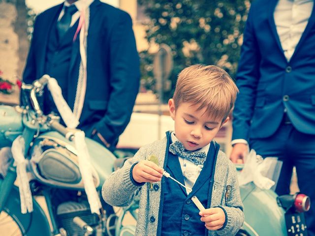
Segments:
[[[183,144],[179,141],[171,143],[169,146],[169,151],[174,155],[181,156],[187,160],[193,162],[196,165],[203,165],[206,160],[206,153],[204,151],[188,151],[184,148]]]

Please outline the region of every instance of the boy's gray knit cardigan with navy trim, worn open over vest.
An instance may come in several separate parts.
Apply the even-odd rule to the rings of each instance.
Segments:
[[[161,182],[155,183],[159,186],[158,191],[150,191],[149,183],[141,186],[137,185],[130,179],[130,168],[133,164],[145,160],[152,154],[158,157],[159,166],[163,168],[166,142],[165,137],[140,148],[133,158],[125,162],[121,169],[112,173],[102,188],[102,196],[105,202],[117,207],[128,206],[139,190],[141,191],[135,236],[157,235],[158,222],[161,220],[158,219],[160,196],[163,189],[161,189]],[[229,194],[226,193],[228,185],[232,187]],[[208,236],[234,236],[244,221],[243,204],[235,166],[222,151],[219,151],[217,157],[211,196],[211,207],[218,206],[225,210],[227,221],[222,229],[208,231]],[[150,218],[152,216],[157,220],[151,222]]]

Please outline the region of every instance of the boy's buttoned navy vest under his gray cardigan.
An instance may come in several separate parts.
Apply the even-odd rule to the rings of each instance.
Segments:
[[[175,179],[184,184],[184,177],[178,156],[168,151],[171,137],[168,133],[167,149],[165,155],[164,169]],[[192,192],[187,195],[186,189],[180,186],[170,178],[163,177],[161,193],[161,204],[159,216],[160,222],[158,231],[162,236],[205,236],[207,229],[204,222],[200,221],[199,209],[191,201],[191,197],[197,196],[202,205],[206,208],[210,207],[213,173],[217,154],[220,149],[219,145],[211,142],[207,159],[204,167],[200,172]]]

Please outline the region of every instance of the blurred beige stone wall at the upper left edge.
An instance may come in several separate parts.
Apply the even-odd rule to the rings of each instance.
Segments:
[[[26,7],[24,0],[0,0],[0,70],[1,77],[16,83],[21,78],[29,42],[26,34]],[[19,89],[0,93],[0,103],[19,104]]]

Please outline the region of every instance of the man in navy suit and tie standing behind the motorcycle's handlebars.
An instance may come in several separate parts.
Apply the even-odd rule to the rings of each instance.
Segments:
[[[83,26],[79,18],[84,19]],[[81,38],[84,27],[87,32]],[[86,58],[80,40],[85,41]],[[85,88],[78,85],[84,72]],[[130,120],[139,89],[139,57],[130,16],[99,0],[66,0],[39,14],[23,80],[32,83],[44,74],[56,78],[70,108],[79,111],[78,128],[113,150]],[[77,100],[84,93],[80,104]],[[49,91],[44,93],[43,110],[57,112]]]

